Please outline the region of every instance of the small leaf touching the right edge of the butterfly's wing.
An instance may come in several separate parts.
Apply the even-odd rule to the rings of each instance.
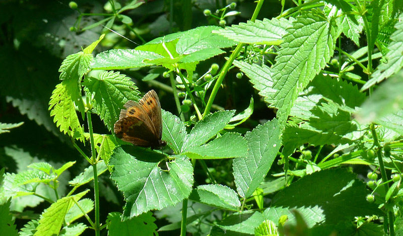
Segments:
[[[176,154],[179,154],[186,137],[186,128],[179,117],[162,110],[162,140],[165,140]]]

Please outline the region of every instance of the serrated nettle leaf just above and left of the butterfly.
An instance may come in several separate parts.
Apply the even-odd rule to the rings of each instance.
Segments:
[[[95,111],[109,130],[113,129],[120,109],[127,101],[141,99],[135,84],[119,72],[104,71],[99,74],[99,78],[87,77],[83,85],[93,95]]]

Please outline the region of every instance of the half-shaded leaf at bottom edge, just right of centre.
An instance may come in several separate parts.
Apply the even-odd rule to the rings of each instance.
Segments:
[[[255,228],[264,220],[265,218],[260,212],[243,211],[228,216],[217,226],[224,229],[226,235],[239,235],[241,233],[254,235]]]

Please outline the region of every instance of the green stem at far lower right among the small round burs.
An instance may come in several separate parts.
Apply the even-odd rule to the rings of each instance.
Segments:
[[[389,184],[386,184],[387,176],[386,176],[385,165],[383,164],[383,159],[382,159],[382,146],[379,143],[378,136],[375,131],[375,125],[373,123],[370,125],[370,129],[371,129],[372,137],[374,138],[374,144],[375,144],[375,146],[378,147],[376,150],[376,154],[378,156],[379,170],[381,172],[382,182],[385,183],[383,185],[383,187],[385,188],[385,193],[387,193],[387,191],[389,190]],[[387,210],[387,215],[388,215],[387,221],[389,224],[389,235],[394,235],[394,214],[392,211]]]

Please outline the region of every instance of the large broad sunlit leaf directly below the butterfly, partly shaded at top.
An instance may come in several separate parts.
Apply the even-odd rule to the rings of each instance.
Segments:
[[[114,166],[111,178],[126,201],[124,219],[175,205],[189,196],[193,185],[190,161],[181,156],[166,163],[164,159],[165,155],[140,147],[115,150],[109,164]]]

